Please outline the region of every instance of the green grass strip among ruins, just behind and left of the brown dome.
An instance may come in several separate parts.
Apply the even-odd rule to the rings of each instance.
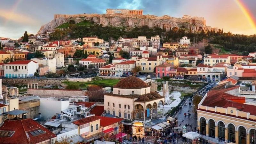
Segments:
[[[86,89],[90,85],[99,85],[102,87],[113,87],[113,85],[117,84],[119,79],[98,79],[93,80],[91,82],[69,82],[65,81],[64,84],[67,85],[78,85],[80,89]]]

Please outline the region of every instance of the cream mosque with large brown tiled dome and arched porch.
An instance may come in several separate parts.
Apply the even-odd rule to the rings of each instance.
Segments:
[[[125,119],[124,128],[130,133],[136,134],[139,129],[144,133],[143,124],[157,117],[157,106],[164,106],[164,97],[150,92],[150,86],[135,76],[128,76],[113,87],[113,93],[104,96],[106,113]]]

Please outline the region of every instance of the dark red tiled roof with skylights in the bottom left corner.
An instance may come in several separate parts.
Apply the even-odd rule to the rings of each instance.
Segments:
[[[34,144],[41,143],[45,140],[50,140],[56,137],[54,133],[30,118],[23,120],[6,120],[4,121],[4,124],[0,127],[0,131],[14,131],[11,137],[1,136],[0,143],[5,144]],[[35,136],[30,133],[34,131],[36,131]]]

